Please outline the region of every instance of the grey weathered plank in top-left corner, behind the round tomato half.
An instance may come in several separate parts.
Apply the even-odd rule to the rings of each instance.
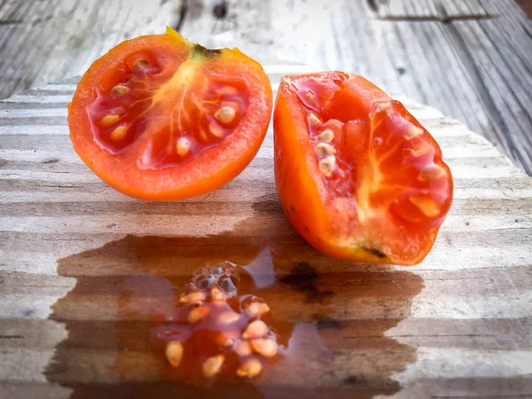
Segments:
[[[127,0],[0,4],[0,98],[64,76],[82,74],[113,45],[161,32],[179,18],[180,2]]]

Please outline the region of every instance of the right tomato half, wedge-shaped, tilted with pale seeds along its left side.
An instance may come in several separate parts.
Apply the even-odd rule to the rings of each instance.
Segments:
[[[404,106],[354,74],[286,76],[275,177],[293,227],[326,254],[421,262],[452,201],[442,150]]]

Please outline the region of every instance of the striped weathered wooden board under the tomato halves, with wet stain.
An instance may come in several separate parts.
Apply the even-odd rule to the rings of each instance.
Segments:
[[[266,69],[274,89],[304,72]],[[442,145],[455,201],[419,266],[357,264],[286,222],[271,131],[216,192],[176,203],[114,192],[71,148],[74,82],[0,104],[0,397],[200,395],[163,378],[148,319],[219,261],[262,282],[253,292],[292,340],[258,383],[218,395],[532,396],[532,179],[484,138],[399,98]]]

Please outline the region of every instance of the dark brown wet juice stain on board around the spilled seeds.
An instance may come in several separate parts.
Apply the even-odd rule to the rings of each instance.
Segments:
[[[130,235],[60,259],[59,275],[76,284],[52,306],[50,318],[68,337],[46,378],[72,388],[75,399],[370,398],[399,391],[392,375],[415,361],[416,350],[384,332],[408,316],[421,278],[332,259],[295,236],[250,237],[249,223],[242,222],[244,233],[202,238]],[[270,306],[282,358],[257,379],[203,387],[172,379],[151,344],[153,312],[175,307],[194,272],[220,262],[238,270],[239,295]]]

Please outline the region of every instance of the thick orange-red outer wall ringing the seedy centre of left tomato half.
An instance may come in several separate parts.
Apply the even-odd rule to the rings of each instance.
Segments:
[[[176,63],[176,68],[195,57],[194,52],[201,52],[203,61],[198,64],[210,74],[223,76],[245,71],[241,77],[249,86],[250,105],[231,137],[208,148],[192,161],[160,170],[137,168],[140,158],[137,153],[117,155],[103,149],[93,133],[94,121],[88,116],[89,106],[95,101],[97,91],[101,90],[98,88],[110,90],[116,84],[109,85],[108,81],[113,79],[109,71],[139,51],[153,52],[169,66]],[[68,106],[67,119],[74,151],[113,189],[141,200],[184,200],[227,184],[246,168],[262,145],[271,109],[270,80],[260,64],[238,49],[208,51],[168,29],[165,35],[140,36],[120,43],[97,59],[83,74]],[[145,132],[145,136],[152,134],[151,131]]]

